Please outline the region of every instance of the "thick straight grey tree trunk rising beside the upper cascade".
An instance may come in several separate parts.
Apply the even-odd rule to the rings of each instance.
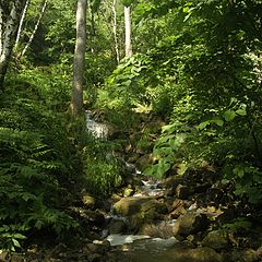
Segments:
[[[86,45],[86,7],[87,0],[78,0],[76,41],[73,61],[73,87],[70,105],[71,114],[78,116],[83,109],[84,61]]]

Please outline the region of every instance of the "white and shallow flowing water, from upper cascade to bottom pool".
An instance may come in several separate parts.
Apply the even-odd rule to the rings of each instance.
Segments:
[[[86,129],[97,139],[107,139],[108,128],[105,123],[96,122],[92,119],[92,114],[86,111]],[[134,176],[140,176],[141,172],[132,164],[126,163],[128,168],[133,169]],[[143,186],[140,192],[133,196],[157,196],[164,194],[165,189],[160,187],[158,180],[142,180]],[[126,219],[124,217],[116,216],[112,212],[108,214],[108,219]],[[175,221],[163,222],[168,225],[174,225]],[[107,239],[115,252],[118,253],[121,262],[175,262],[172,259],[174,250],[179,245],[175,237],[152,238],[144,235],[123,235],[111,234],[105,229],[103,231],[105,239]],[[108,235],[108,236],[107,236]]]

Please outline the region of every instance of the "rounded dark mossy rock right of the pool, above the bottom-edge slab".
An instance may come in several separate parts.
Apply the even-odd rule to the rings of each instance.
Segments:
[[[203,239],[202,245],[215,250],[227,249],[230,246],[226,234],[219,230],[210,231]]]

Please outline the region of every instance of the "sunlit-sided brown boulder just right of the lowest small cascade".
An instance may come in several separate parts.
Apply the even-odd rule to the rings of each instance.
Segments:
[[[174,226],[174,235],[195,234],[205,230],[209,227],[210,221],[204,214],[187,213],[180,215]]]

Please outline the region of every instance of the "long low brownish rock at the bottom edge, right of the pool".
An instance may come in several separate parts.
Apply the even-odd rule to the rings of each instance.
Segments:
[[[180,248],[168,251],[167,258],[176,262],[223,262],[223,258],[214,249],[204,248]]]

